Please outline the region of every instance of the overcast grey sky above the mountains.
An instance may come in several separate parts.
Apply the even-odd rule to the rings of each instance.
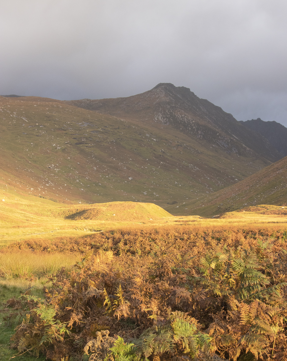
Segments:
[[[287,126],[286,0],[0,0],[0,94],[61,100],[190,88]]]

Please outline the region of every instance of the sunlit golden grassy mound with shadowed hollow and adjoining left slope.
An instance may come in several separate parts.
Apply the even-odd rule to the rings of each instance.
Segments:
[[[31,239],[68,240],[107,229],[156,225],[174,219],[151,203],[72,205],[6,190],[0,199],[0,245]]]

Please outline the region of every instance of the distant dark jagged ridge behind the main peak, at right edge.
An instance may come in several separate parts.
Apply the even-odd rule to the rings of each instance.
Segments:
[[[283,157],[287,156],[287,128],[273,122],[264,122],[260,118],[240,121],[245,127],[263,135]]]

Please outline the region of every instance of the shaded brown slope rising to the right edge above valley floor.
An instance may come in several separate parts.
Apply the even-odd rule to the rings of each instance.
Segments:
[[[178,209],[181,214],[211,217],[260,204],[287,205],[287,157],[221,191],[180,204]]]

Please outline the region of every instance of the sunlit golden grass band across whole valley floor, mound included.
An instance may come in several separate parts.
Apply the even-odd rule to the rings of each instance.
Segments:
[[[270,207],[270,210],[274,208],[268,205],[262,207],[264,213],[268,213],[266,208]],[[278,225],[286,229],[287,217],[280,214],[262,214],[260,207],[253,211],[247,209],[245,212],[225,213],[220,218],[171,216],[164,209],[150,203],[110,202],[67,205],[35,196],[15,196],[8,191],[5,194],[5,201],[0,201],[1,246],[31,239],[46,239],[53,242],[57,238],[79,238],[98,231],[180,224],[190,227],[231,225],[241,228],[248,225],[257,227]]]

